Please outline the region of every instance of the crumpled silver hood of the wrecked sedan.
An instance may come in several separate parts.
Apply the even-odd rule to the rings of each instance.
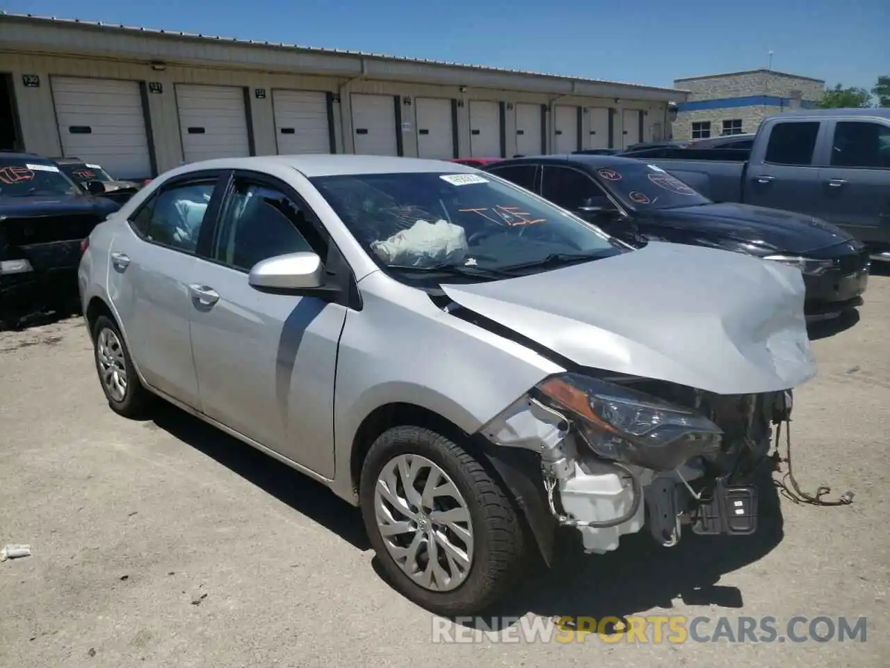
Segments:
[[[651,242],[449,298],[582,366],[721,395],[795,387],[816,373],[797,269]]]

